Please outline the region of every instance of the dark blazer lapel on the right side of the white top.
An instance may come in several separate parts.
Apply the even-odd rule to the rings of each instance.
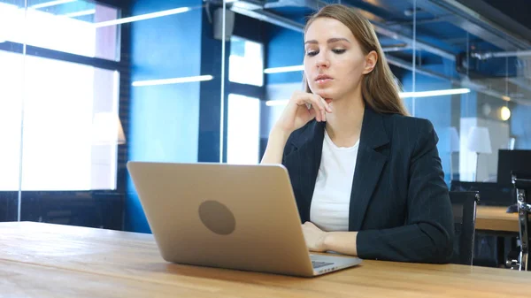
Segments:
[[[350,192],[349,231],[359,231],[361,228],[381,170],[388,159],[378,150],[389,143],[382,117],[371,108],[365,110]]]

